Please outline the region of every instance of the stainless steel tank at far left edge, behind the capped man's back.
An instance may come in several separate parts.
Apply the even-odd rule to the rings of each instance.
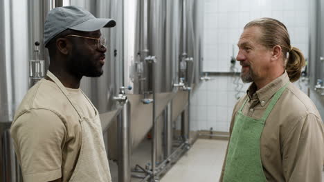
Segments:
[[[0,181],[21,181],[9,127],[28,90],[28,1],[0,1]]]

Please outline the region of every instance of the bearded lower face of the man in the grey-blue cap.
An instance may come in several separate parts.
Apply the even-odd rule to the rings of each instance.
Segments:
[[[93,60],[93,56],[73,48],[67,63],[68,70],[77,77],[100,77],[103,74],[102,65]]]

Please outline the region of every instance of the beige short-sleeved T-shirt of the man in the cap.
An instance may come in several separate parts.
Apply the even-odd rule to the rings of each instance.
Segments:
[[[84,116],[96,115],[80,89],[67,88]],[[81,146],[79,115],[52,81],[28,90],[11,126],[24,181],[69,181]]]

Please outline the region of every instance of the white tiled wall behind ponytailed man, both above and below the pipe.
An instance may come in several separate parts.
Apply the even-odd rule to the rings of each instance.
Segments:
[[[233,46],[253,19],[272,17],[287,26],[291,45],[308,57],[307,0],[204,0],[204,72],[230,72]],[[236,63],[240,70],[240,65]],[[240,81],[242,83],[242,81]],[[244,84],[240,96],[249,84]],[[233,77],[215,76],[192,95],[191,129],[228,132],[236,103]]]

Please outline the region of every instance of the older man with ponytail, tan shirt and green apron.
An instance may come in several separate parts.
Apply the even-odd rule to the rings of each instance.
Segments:
[[[220,181],[320,182],[323,122],[292,83],[305,59],[276,19],[246,24],[237,43],[242,81],[251,85],[233,110]]]

